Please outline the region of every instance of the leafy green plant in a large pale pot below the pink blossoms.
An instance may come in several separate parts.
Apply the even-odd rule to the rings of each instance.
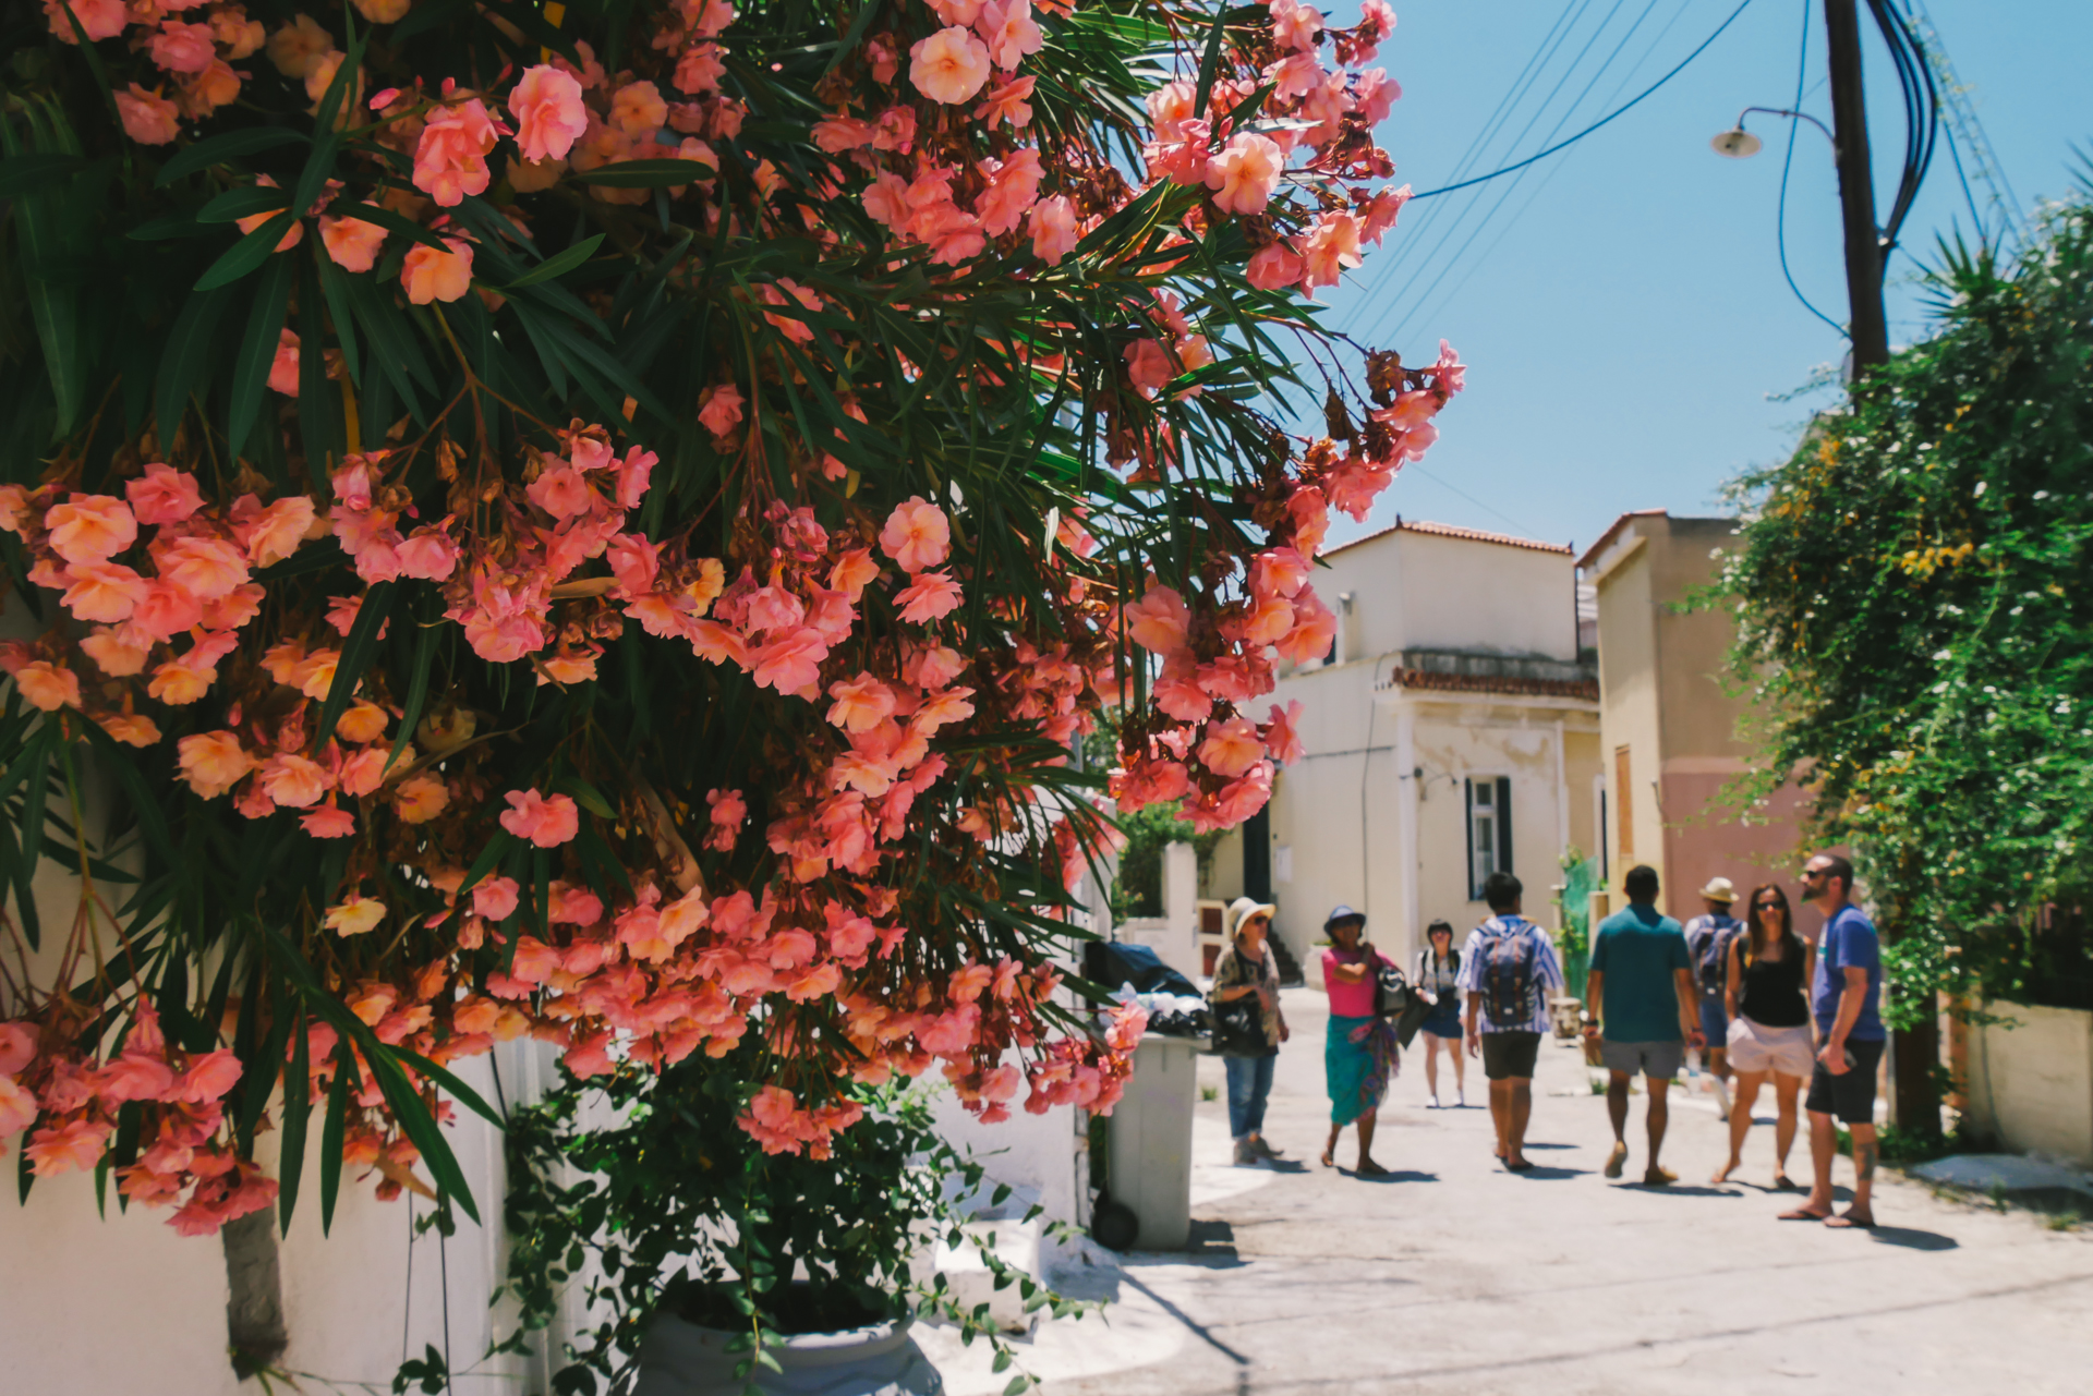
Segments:
[[[917,1316],[1000,1348],[986,1306],[961,1306],[921,1264],[938,1239],[977,1249],[1028,1310],[1078,1308],[977,1245],[971,1206],[1009,1189],[990,1191],[936,1132],[925,1088],[856,1086],[862,1116],[820,1157],[766,1151],[735,1128],[758,1067],[747,1053],[567,1078],[511,1118],[504,1291],[521,1325],[502,1348],[525,1350],[576,1300],[607,1314],[553,1354],[557,1392],[802,1390],[810,1371],[938,1392],[908,1331]]]

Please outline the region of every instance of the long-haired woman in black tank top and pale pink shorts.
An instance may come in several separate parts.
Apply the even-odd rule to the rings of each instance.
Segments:
[[[1796,1099],[1810,1074],[1815,1044],[1804,998],[1813,950],[1796,936],[1787,894],[1764,885],[1752,894],[1746,936],[1729,946],[1729,1065],[1737,1074],[1737,1105],[1729,1111],[1729,1162],[1714,1180],[1727,1183],[1743,1162],[1752,1132],[1752,1101],[1773,1078],[1779,1120],[1773,1126],[1773,1187],[1790,1191],[1787,1149],[1796,1143]]]

